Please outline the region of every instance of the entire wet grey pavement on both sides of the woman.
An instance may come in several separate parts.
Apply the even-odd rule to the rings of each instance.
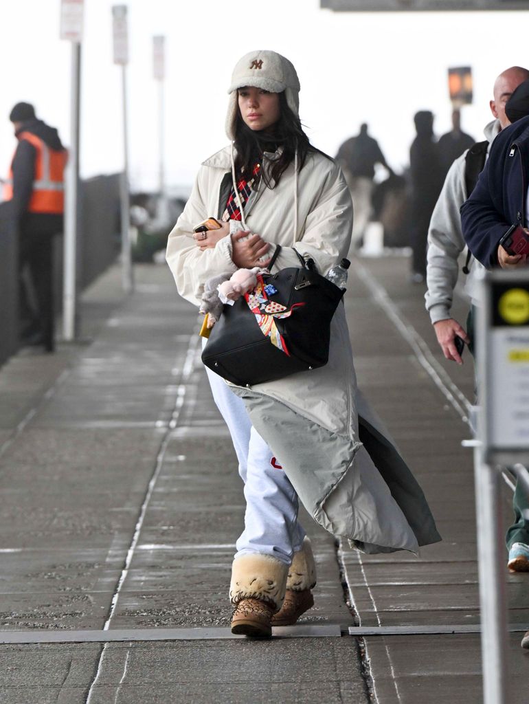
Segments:
[[[347,309],[359,385],[445,540],[419,559],[359,555],[305,515],[319,581],[304,637],[230,637],[243,496],[196,310],[165,266],[136,267],[129,298],[112,268],[84,295],[83,344],[25,350],[0,369],[0,629],[34,641],[0,645],[3,704],[481,701],[478,634],[348,635],[478,623],[472,456],[460,444],[471,364],[440,360],[407,260],[356,264]],[[506,576],[519,627],[528,578]],[[103,629],[121,642],[87,642]],[[76,642],[43,642],[61,631]],[[520,639],[513,704],[526,701]]]

